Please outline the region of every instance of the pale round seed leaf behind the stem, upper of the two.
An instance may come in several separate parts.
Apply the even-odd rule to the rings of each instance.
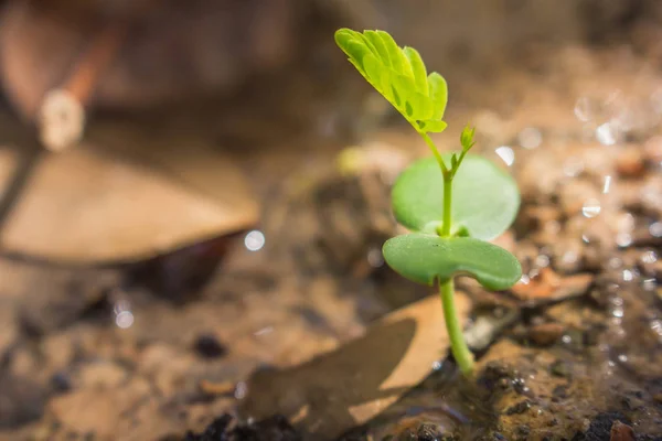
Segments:
[[[445,155],[450,164],[450,155]],[[416,161],[395,182],[396,219],[414,232],[433,232],[444,218],[444,178],[434,158]],[[491,240],[515,219],[520,193],[515,181],[495,164],[468,154],[452,181],[452,227]]]

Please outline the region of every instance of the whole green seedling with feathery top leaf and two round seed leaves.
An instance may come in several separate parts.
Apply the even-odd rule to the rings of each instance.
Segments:
[[[335,42],[433,152],[433,158],[409,165],[393,186],[395,217],[412,233],[388,239],[383,252],[388,266],[405,278],[438,283],[453,357],[470,375],[473,355],[456,313],[453,278],[469,276],[493,291],[520,280],[517,259],[488,241],[513,223],[520,207],[517,186],[492,162],[467,154],[476,143],[474,129],[462,131],[460,152],[439,153],[428,133],[446,129],[448,87],[438,73],[427,74],[416,50],[399,47],[384,31],[340,29]]]

